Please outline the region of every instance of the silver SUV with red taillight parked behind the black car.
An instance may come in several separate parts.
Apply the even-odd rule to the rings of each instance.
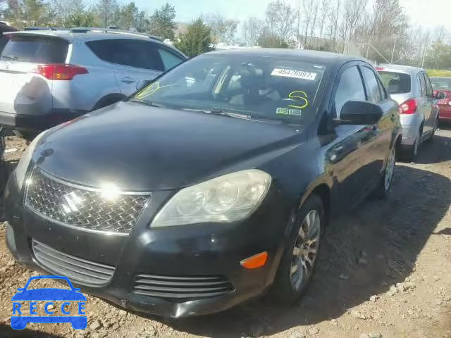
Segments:
[[[156,37],[77,28],[8,33],[0,56],[0,126],[34,134],[121,101],[186,60]]]

